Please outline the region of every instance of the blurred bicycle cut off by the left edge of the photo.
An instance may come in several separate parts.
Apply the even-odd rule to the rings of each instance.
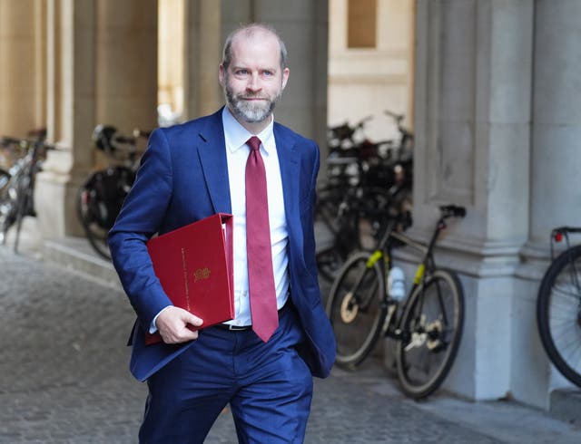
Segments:
[[[10,227],[16,226],[15,253],[18,252],[20,232],[25,216],[35,216],[34,185],[47,150],[55,150],[44,142],[45,130],[35,130],[29,135],[36,140],[0,138],[0,145],[11,150],[25,150],[25,155],[15,160],[8,171],[0,172],[0,244],[5,245]]]

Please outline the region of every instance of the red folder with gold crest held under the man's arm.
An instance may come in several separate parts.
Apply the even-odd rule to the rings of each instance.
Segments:
[[[203,319],[193,331],[234,318],[232,216],[215,214],[147,242],[153,270],[172,304]],[[145,343],[159,343],[146,333]]]

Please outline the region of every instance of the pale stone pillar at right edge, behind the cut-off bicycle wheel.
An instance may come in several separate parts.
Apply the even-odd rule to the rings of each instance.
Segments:
[[[581,187],[576,185],[581,170],[581,102],[576,100],[581,85],[580,14],[576,0],[536,2],[530,231],[518,270],[518,306],[530,321],[517,344],[515,374],[520,377],[514,380],[517,394],[542,408],[549,405],[550,391],[570,385],[547,359],[535,310],[539,281],[549,265],[551,230],[581,224]]]

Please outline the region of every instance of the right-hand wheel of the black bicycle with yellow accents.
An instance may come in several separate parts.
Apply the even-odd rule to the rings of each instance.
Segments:
[[[456,358],[464,325],[464,294],[458,276],[436,270],[404,306],[396,343],[402,390],[425,398],[444,381]]]

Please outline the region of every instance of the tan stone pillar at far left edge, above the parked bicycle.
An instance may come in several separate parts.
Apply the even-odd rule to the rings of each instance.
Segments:
[[[45,124],[44,11],[43,0],[0,2],[0,135]]]

